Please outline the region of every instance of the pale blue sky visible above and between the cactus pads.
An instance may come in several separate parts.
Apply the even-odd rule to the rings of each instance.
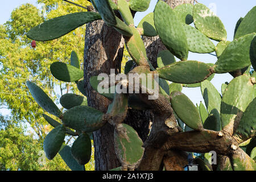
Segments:
[[[204,0],[200,1],[200,3],[204,3],[204,5],[208,6],[210,9],[216,13],[222,22],[225,25],[226,31],[228,32],[228,40],[233,40],[233,32],[234,27],[236,26],[237,20],[240,17],[244,17],[249,10],[251,10],[255,5],[255,0],[246,0],[246,1],[224,1],[224,0]],[[145,16],[146,14],[154,11],[154,6],[157,0],[151,0],[150,8],[145,11],[144,13],[137,13],[135,15],[135,25],[139,23],[139,21]],[[11,0],[11,1],[1,1],[0,6],[0,24],[6,22],[9,19],[11,11],[22,5],[23,3],[32,3],[36,5],[36,0]],[[256,23],[256,20],[255,20]],[[208,55],[208,54],[196,54],[196,53],[189,53],[188,60],[197,60],[203,61],[205,63],[215,63],[216,57]],[[212,84],[221,92],[221,84],[225,81],[232,80],[232,76],[227,74],[216,75],[213,80]],[[200,101],[203,101],[203,97],[201,96],[200,88],[184,88],[183,93],[186,94],[194,104],[199,104]]]

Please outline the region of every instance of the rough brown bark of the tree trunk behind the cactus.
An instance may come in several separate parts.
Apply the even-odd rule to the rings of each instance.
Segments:
[[[165,2],[174,8],[181,3],[193,3],[193,0],[166,0]],[[156,55],[160,50],[165,49],[163,44],[160,43],[157,37],[145,39],[144,43],[147,48],[148,59],[150,59],[152,63],[156,63]],[[86,25],[84,82],[89,106],[103,112],[106,112],[108,109],[110,101],[92,89],[89,84],[89,78],[91,76],[97,76],[100,73],[109,74],[111,68],[115,69],[117,71],[116,73],[118,73],[120,71],[120,63],[123,55],[123,46],[124,40],[122,36],[112,27],[106,26],[102,20]],[[129,109],[125,122],[134,127],[144,141],[148,135],[148,126],[152,119],[153,117],[150,111]],[[114,128],[109,124],[106,124],[102,129],[93,133],[96,170],[109,170],[120,166],[114,152],[113,133]],[[156,152],[160,151],[156,150]],[[160,153],[158,154],[160,163],[162,163],[163,156],[161,156]],[[176,152],[169,152],[168,154],[171,155],[170,158],[173,158],[172,154],[176,154]],[[152,157],[154,156],[156,155],[152,155]],[[170,161],[168,160],[168,155],[164,160],[167,162]],[[181,160],[180,163],[183,164],[184,162]],[[156,169],[159,168],[159,166],[149,169]],[[175,169],[175,167],[172,169]]]

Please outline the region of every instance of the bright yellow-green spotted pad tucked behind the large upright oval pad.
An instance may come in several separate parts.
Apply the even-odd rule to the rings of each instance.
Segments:
[[[215,50],[215,46],[204,34],[196,28],[187,24],[182,24],[187,36],[188,50],[196,53],[210,53]]]

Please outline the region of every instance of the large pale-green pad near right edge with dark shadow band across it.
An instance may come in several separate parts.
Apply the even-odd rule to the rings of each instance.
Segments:
[[[235,121],[240,121],[253,98],[254,87],[250,77],[242,75],[234,78],[227,86],[221,101],[222,129]]]

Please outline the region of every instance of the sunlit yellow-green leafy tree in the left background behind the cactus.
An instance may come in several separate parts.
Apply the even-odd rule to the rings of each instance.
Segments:
[[[44,20],[82,9],[63,1],[38,3],[46,5],[46,12],[31,4],[22,5],[11,13],[9,21],[0,25],[0,102],[1,107],[10,111],[9,118],[2,118],[2,122],[9,122],[1,125],[0,158],[2,165],[5,164],[1,166],[3,170],[69,169],[60,156],[51,162],[47,160],[46,166],[38,164],[38,152],[42,150],[43,139],[52,126],[42,117],[44,111],[28,94],[25,82],[31,80],[42,85],[53,100],[59,100],[64,93],[79,94],[74,84],[56,80],[48,70],[54,61],[68,63],[72,51],[76,51],[82,59],[85,26],[57,40],[36,42],[35,49],[31,48],[31,40],[26,33]],[[90,4],[86,1],[77,3],[83,6]],[[72,140],[73,137],[66,138],[67,143]],[[31,160],[30,166],[26,166],[25,161],[28,160]],[[86,168],[93,169],[93,159],[91,164]]]

